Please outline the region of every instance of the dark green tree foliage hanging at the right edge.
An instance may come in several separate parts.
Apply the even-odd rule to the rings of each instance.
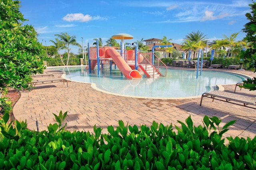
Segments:
[[[240,58],[244,59],[245,63],[249,63],[248,69],[253,69],[256,72],[256,2],[249,4],[251,12],[246,13],[246,17],[249,20],[247,24],[244,25],[243,32],[246,33],[244,41],[248,44],[248,49],[246,51],[241,50]],[[256,77],[253,79],[247,79],[244,81],[242,86],[246,89],[256,90]]]

